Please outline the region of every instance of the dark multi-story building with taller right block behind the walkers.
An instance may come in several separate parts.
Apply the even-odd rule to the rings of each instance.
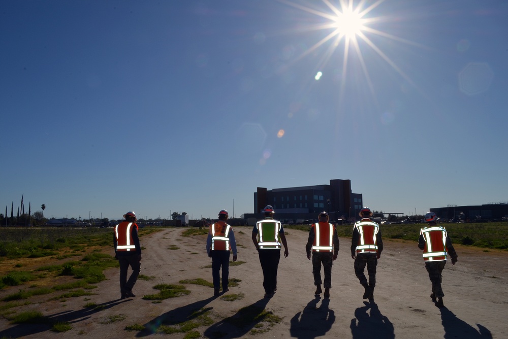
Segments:
[[[351,191],[351,180],[332,179],[330,184],[271,191],[258,187],[254,193],[255,213],[246,213],[242,218],[260,218],[263,208],[271,205],[280,220],[315,220],[322,211],[328,212],[330,220],[350,219],[358,215],[362,203],[362,194]]]

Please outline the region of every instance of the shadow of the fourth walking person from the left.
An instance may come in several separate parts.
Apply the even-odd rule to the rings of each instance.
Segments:
[[[307,303],[302,312],[291,318],[290,333],[292,337],[307,339],[325,335],[335,322],[335,313],[328,308],[330,299],[323,299],[316,308],[321,297],[315,296]]]

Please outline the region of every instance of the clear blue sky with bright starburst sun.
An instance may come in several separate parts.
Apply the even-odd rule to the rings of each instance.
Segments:
[[[240,217],[330,179],[409,215],[508,201],[508,2],[360,6],[3,0],[0,213]]]

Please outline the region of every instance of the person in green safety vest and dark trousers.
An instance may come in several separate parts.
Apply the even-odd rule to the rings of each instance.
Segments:
[[[273,219],[273,207],[263,209],[265,219],[256,223],[252,229],[252,242],[256,246],[259,262],[263,270],[265,298],[273,297],[277,290],[277,268],[280,260],[280,244],[284,246],[284,258],[289,255],[288,242],[280,221]]]

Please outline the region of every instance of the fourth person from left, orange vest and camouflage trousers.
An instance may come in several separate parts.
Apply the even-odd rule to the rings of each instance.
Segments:
[[[321,285],[325,287],[325,298],[330,297],[330,288],[332,287],[332,262],[337,259],[339,253],[339,237],[335,225],[328,221],[330,217],[327,212],[321,212],[317,217],[319,222],[312,224],[309,231],[309,238],[305,250],[307,259],[310,260],[312,250],[312,274],[314,275],[314,285],[316,290],[314,295],[319,295],[323,291]],[[325,280],[321,280],[321,264],[325,273]]]

